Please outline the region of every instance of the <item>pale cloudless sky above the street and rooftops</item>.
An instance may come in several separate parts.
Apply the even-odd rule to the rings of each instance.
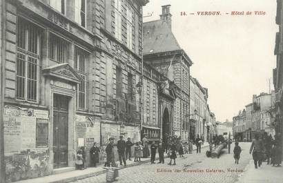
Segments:
[[[159,19],[166,4],[171,5],[173,33],[193,61],[191,75],[208,88],[208,104],[217,121],[232,121],[254,94],[269,93],[269,79],[273,89],[275,0],[150,0],[143,13],[153,15],[144,21]],[[197,15],[201,11],[221,15]],[[253,14],[232,16],[232,11]]]

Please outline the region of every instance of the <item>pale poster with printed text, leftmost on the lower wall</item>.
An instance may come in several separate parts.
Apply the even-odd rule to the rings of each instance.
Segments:
[[[19,117],[4,115],[4,153],[19,153],[21,148],[21,121]]]

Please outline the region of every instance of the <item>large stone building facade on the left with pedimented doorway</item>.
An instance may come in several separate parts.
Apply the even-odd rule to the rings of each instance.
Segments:
[[[140,140],[146,3],[4,1],[7,182],[72,170],[80,146],[88,151],[97,142],[103,150],[108,137]],[[150,113],[156,117],[148,122],[157,124],[158,88],[152,81],[156,109]]]

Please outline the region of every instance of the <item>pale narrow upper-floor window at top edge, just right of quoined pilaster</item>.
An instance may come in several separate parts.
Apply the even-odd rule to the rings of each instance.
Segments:
[[[121,0],[115,0],[115,37],[121,41]]]

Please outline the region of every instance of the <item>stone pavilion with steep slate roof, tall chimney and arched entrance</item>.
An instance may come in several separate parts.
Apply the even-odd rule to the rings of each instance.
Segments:
[[[173,35],[171,17],[170,5],[166,5],[162,6],[159,20],[144,23],[144,61],[175,84],[173,88],[167,82],[162,84],[169,87],[170,95],[175,95],[175,102],[174,97],[161,98],[161,136],[167,133],[188,140],[192,61]]]

